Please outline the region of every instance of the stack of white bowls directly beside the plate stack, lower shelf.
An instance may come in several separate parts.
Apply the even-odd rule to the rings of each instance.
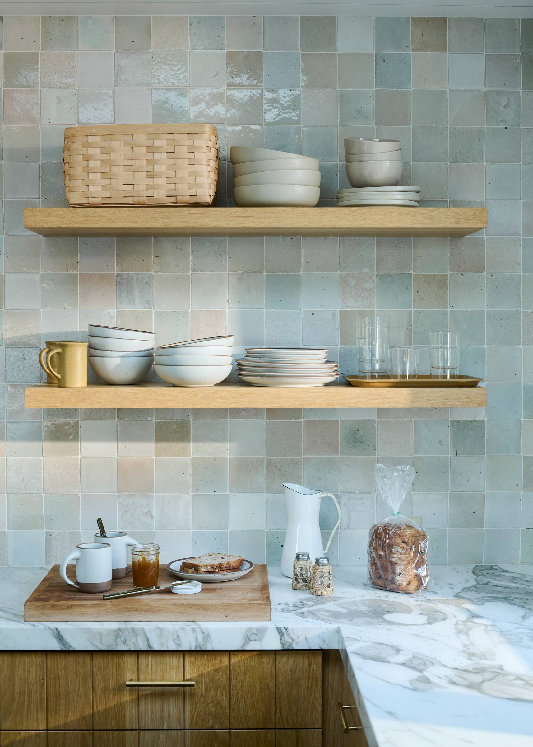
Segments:
[[[155,373],[172,386],[213,386],[229,376],[234,335],[185,340],[155,348]]]

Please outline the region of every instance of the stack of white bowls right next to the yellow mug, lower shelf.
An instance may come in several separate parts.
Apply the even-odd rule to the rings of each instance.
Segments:
[[[154,332],[90,324],[89,365],[107,384],[134,384],[154,363]]]

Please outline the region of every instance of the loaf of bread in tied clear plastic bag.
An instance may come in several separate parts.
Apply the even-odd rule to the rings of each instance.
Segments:
[[[378,494],[390,508],[390,516],[370,528],[368,536],[368,583],[378,589],[417,594],[428,586],[428,536],[416,521],[402,515],[399,507],[411,492],[411,465],[375,465]]]

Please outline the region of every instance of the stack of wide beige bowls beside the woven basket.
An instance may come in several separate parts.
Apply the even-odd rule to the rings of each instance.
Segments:
[[[238,208],[314,208],[320,198],[317,158],[266,148],[231,146]]]

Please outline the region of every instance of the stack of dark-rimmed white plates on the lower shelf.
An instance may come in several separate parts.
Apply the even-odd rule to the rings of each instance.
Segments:
[[[338,364],[328,350],[302,347],[247,347],[237,360],[237,375],[254,386],[323,386],[336,381]]]

